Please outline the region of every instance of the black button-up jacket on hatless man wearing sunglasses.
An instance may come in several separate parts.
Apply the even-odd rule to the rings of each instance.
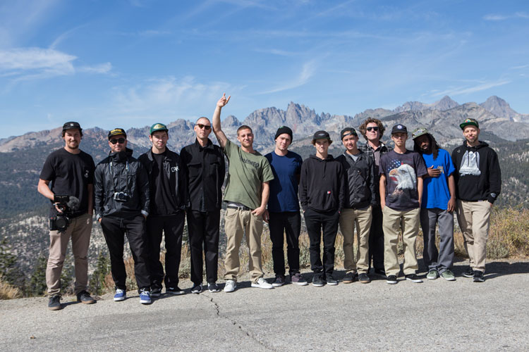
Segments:
[[[226,174],[224,153],[219,146],[207,139],[202,147],[198,140],[184,146],[180,152],[186,165],[191,209],[213,211],[222,207],[222,184]]]

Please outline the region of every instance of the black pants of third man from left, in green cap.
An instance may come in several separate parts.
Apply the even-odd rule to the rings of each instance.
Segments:
[[[184,212],[174,215],[148,216],[147,237],[149,239],[149,270],[151,274],[151,288],[162,289],[178,286],[178,269],[182,253]],[[160,262],[160,244],[162,232],[165,234],[165,276],[164,266]]]

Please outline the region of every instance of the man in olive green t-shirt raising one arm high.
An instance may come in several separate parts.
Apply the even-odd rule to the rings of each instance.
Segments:
[[[242,125],[237,130],[237,140],[241,146],[233,144],[221,130],[221,109],[226,106],[230,96],[224,94],[217,102],[213,114],[213,132],[228,158],[228,180],[224,191],[227,203],[224,217],[226,231],[226,286],[224,292],[232,292],[237,287],[239,272],[239,246],[246,234],[246,243],[250,248],[250,275],[252,287],[272,289],[272,284],[263,278],[261,263],[262,215],[265,213],[269,196],[269,181],[274,179],[272,168],[267,159],[253,149],[253,132],[249,126]]]

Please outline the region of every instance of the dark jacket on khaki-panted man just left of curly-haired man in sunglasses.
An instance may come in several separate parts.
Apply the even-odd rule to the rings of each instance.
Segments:
[[[336,158],[340,161],[346,175],[346,197],[344,208],[361,209],[376,206],[375,198],[375,162],[366,153],[360,151],[358,160],[343,153]]]

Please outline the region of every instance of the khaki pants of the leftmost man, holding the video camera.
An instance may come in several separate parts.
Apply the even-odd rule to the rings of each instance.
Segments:
[[[75,294],[87,288],[88,284],[88,247],[92,232],[92,215],[83,214],[71,220],[64,232],[49,232],[49,257],[46,268],[48,296],[61,293],[61,272],[68,241],[72,239],[72,252],[75,259]]]

